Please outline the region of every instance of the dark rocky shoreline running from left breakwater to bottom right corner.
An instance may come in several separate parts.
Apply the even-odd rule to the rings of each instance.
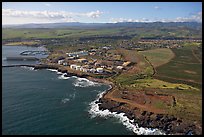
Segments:
[[[123,102],[116,102],[109,98],[105,98],[105,95],[110,93],[114,84],[106,79],[97,79],[90,77],[89,75],[80,75],[72,72],[68,72],[68,70],[58,67],[56,65],[47,65],[47,64],[37,64],[37,65],[9,65],[2,67],[33,67],[36,69],[56,69],[58,72],[66,73],[65,76],[77,76],[80,78],[87,78],[91,81],[108,84],[111,87],[106,91],[103,96],[96,101],[99,105],[100,110],[108,109],[110,112],[125,113],[130,120],[134,119],[134,123],[138,124],[139,127],[146,128],[157,128],[164,131],[166,134],[172,135],[201,135],[202,134],[202,126],[197,123],[191,123],[188,121],[184,121],[182,119],[176,118],[172,115],[168,114],[156,114],[153,112],[143,111],[140,108],[131,107]]]

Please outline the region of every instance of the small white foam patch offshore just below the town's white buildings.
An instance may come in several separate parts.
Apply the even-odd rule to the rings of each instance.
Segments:
[[[76,78],[75,82],[73,83],[75,87],[90,87],[90,86],[100,86],[101,84],[97,82],[90,81],[86,78]]]

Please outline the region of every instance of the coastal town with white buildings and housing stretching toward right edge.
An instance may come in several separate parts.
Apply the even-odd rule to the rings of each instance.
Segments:
[[[117,48],[106,44],[101,47],[76,45],[72,48],[54,50],[42,63],[57,65],[69,72],[90,75],[92,77],[107,78],[123,71],[127,71],[137,63],[124,58],[120,50],[144,51],[155,48],[182,48],[184,43],[199,44],[200,40],[122,40]],[[86,42],[85,42],[86,43]],[[84,44],[85,44],[84,43]],[[87,43],[88,44],[88,43]],[[74,48],[73,48],[74,47]],[[71,49],[71,50],[70,50]],[[135,59],[137,60],[137,59]]]

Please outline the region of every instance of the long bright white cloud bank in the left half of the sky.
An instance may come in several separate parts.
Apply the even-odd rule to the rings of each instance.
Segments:
[[[46,3],[47,4],[47,3]],[[85,13],[76,12],[66,12],[66,11],[23,11],[14,9],[2,9],[2,17],[13,17],[13,18],[30,18],[32,20],[43,19],[44,21],[66,21],[66,22],[76,22],[80,18],[99,18],[103,12],[91,11]]]

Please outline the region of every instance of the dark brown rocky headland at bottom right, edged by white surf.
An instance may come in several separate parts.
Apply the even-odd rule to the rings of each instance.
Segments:
[[[100,110],[108,109],[110,112],[125,113],[130,120],[134,119],[139,127],[157,128],[166,134],[172,135],[201,135],[201,126],[196,123],[184,121],[168,114],[156,114],[143,111],[139,108],[132,108],[126,103],[116,102],[105,98],[100,98],[97,102]]]

